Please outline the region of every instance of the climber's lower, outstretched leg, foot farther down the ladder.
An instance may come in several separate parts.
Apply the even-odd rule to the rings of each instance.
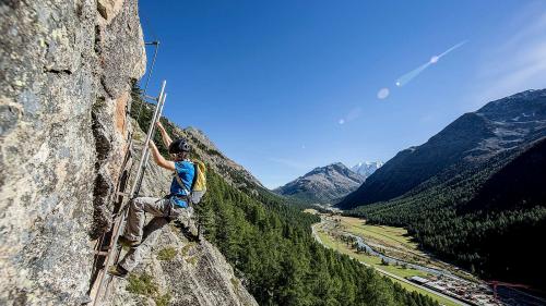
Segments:
[[[142,243],[136,247],[131,247],[123,260],[119,262],[119,266],[121,266],[121,268],[123,268],[127,272],[131,272],[142,260],[143,254],[151,250],[162,232],[161,229],[168,222],[169,220],[165,217],[154,217],[144,228]]]

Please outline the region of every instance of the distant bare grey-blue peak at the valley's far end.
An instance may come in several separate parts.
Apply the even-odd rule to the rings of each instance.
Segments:
[[[314,168],[274,192],[313,204],[333,204],[358,188],[364,180],[343,163],[336,162]]]

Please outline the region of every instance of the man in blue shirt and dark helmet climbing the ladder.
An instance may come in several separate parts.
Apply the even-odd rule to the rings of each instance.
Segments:
[[[157,127],[174,161],[166,160],[152,140],[150,149],[157,166],[175,172],[170,194],[164,198],[136,197],[129,203],[124,234],[118,242],[131,249],[118,265],[110,268],[109,273],[116,277],[124,278],[131,272],[143,254],[155,244],[159,230],[189,208],[188,196],[195,174],[195,168],[189,160],[190,145],[183,138],[173,142],[161,122],[157,122]],[[154,216],[146,227],[144,212]]]

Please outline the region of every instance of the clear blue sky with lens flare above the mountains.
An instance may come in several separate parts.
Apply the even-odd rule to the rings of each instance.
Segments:
[[[268,187],[387,161],[489,100],[546,87],[545,12],[523,0],[140,1],[145,39],[162,44],[150,93],[167,79],[166,115]]]

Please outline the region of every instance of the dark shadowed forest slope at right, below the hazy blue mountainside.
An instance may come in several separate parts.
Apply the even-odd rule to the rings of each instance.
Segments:
[[[544,173],[546,138],[479,167],[455,167],[403,197],[351,213],[406,227],[426,249],[485,279],[544,290]]]

